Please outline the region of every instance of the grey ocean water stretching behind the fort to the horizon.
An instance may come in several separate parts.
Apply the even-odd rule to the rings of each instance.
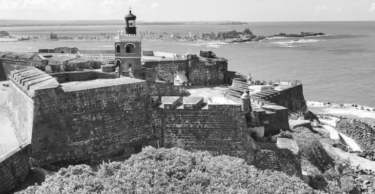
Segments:
[[[124,26],[42,26],[3,27],[17,38],[53,33],[58,36],[115,35]],[[254,80],[301,80],[308,101],[344,104],[326,106],[309,102],[309,109],[319,113],[335,113],[364,118],[375,123],[375,21],[330,22],[250,22],[247,25],[147,25],[138,26],[144,32],[186,34],[217,33],[224,30],[243,31],[250,28],[254,35],[279,33],[323,32],[327,35],[306,38],[278,38],[225,44],[219,41],[193,41],[192,52],[202,49],[229,60],[229,71],[251,76]],[[41,48],[61,46],[81,50],[111,50],[111,41],[50,41],[0,42],[0,51],[35,52]],[[143,50],[187,53],[186,41],[144,40]],[[313,104],[313,105],[312,105]],[[357,104],[358,109],[348,108]],[[364,106],[364,110],[360,107]]]

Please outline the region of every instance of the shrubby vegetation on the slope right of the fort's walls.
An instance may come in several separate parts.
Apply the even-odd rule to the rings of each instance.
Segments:
[[[281,134],[290,136],[289,133]],[[330,194],[351,193],[354,190],[356,185],[350,166],[336,158],[331,158],[322,145],[322,142],[332,146],[340,143],[335,143],[325,133],[311,131],[304,127],[293,129],[291,135],[298,144],[301,167],[310,176],[313,189]]]

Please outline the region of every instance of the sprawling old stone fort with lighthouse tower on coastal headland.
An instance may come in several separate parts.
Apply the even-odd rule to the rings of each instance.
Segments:
[[[0,193],[33,166],[99,163],[148,145],[236,156],[302,178],[296,142],[271,137],[290,129],[290,112],[307,116],[301,82],[248,80],[206,50],[143,51],[135,20],[125,16],[114,51],[0,52],[8,118],[20,145],[0,157]],[[189,93],[212,85],[222,94]]]

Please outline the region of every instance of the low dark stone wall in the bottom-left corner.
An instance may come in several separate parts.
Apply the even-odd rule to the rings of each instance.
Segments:
[[[30,144],[17,147],[0,157],[0,194],[4,194],[20,185],[29,174]]]

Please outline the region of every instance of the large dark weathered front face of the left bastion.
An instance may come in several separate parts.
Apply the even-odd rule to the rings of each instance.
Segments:
[[[38,91],[33,155],[55,165],[129,156],[154,142],[146,81],[80,91]]]

